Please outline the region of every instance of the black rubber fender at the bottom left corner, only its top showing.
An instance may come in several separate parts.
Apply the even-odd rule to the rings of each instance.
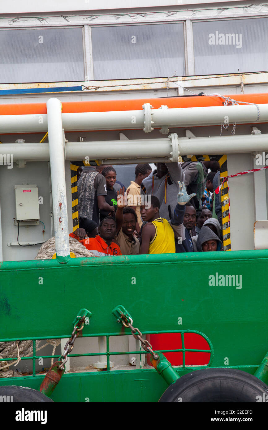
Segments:
[[[0,396],[1,402],[53,402],[52,399],[40,393],[40,391],[28,387],[19,387],[18,385],[4,385],[0,387]]]

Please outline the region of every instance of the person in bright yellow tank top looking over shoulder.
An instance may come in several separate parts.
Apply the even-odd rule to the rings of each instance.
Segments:
[[[141,205],[142,227],[141,254],[170,254],[175,252],[173,228],[165,218],[159,216],[160,203],[157,197],[147,196],[148,203]]]

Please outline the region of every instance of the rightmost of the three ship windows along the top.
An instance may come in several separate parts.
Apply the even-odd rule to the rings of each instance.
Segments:
[[[268,18],[194,22],[196,75],[268,69]]]

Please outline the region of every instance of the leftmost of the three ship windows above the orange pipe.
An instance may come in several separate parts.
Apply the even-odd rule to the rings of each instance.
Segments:
[[[82,28],[0,30],[0,83],[83,81]]]

